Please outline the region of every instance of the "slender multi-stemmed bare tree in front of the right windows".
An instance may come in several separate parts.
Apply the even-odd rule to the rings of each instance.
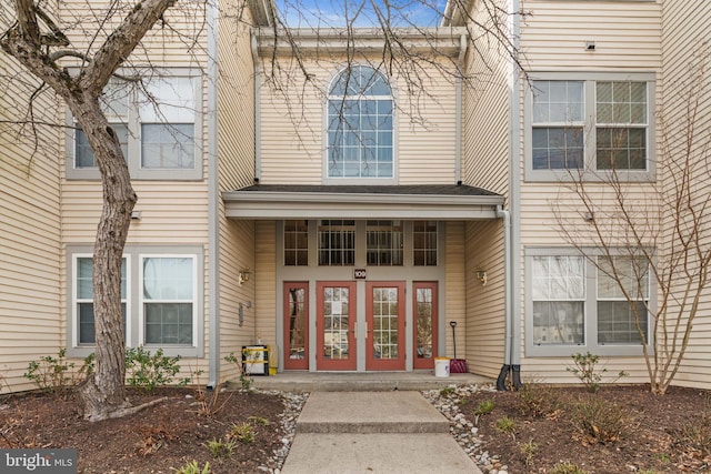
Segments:
[[[620,132],[612,135],[609,155],[598,150],[598,163],[607,160],[608,169],[569,170],[552,202],[561,235],[629,304],[658,395],[682,365],[700,303],[708,297],[711,134],[701,105],[711,78],[709,50],[699,51],[683,80],[665,84],[657,114],[655,179],[630,180],[620,161],[627,147]]]

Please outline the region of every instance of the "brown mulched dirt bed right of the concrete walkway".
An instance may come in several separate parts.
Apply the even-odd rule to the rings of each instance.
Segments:
[[[493,411],[478,416],[485,401]],[[468,420],[478,418],[485,448],[509,473],[711,472],[707,391],[672,387],[657,396],[641,385],[603,386],[594,394],[539,385],[479,392],[459,404]],[[513,423],[501,422],[504,416]]]

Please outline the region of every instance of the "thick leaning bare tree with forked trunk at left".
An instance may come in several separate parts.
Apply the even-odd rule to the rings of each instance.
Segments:
[[[41,2],[16,0],[16,18],[0,37],[0,48],[59,95],[83,130],[101,173],[103,210],[93,251],[96,372],[80,389],[84,417],[121,416],[131,409],[124,395],[124,336],[121,324],[121,258],[137,196],[119,139],[101,109],[100,97],[119,67],[174,0],[144,0],[103,43],[88,53],[72,48]],[[98,36],[98,34],[97,34]],[[78,58],[76,75],[61,64]]]

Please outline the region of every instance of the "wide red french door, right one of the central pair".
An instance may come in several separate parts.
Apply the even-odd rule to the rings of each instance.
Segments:
[[[404,282],[368,282],[365,369],[404,370]]]

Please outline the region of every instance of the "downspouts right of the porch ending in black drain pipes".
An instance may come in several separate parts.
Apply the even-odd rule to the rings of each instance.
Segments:
[[[520,0],[510,0],[510,29],[512,53],[518,57],[521,46],[521,22],[519,11]],[[504,246],[505,246],[505,344],[504,362],[497,379],[497,389],[505,390],[505,379],[511,374],[511,384],[518,390],[521,386],[521,323],[520,323],[520,284],[517,270],[520,268],[518,245],[519,214],[520,214],[520,177],[519,162],[521,160],[521,74],[518,64],[510,60],[509,84],[509,211],[497,210],[504,218]],[[508,232],[507,232],[508,221]],[[505,243],[508,241],[508,244]]]

